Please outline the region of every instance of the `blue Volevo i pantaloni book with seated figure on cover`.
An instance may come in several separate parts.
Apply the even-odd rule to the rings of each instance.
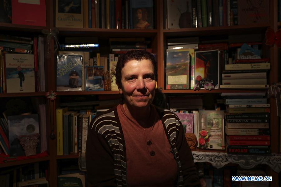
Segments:
[[[57,91],[82,91],[82,56],[57,55]]]

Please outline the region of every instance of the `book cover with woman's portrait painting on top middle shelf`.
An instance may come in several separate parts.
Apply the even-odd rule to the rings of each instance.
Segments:
[[[131,0],[130,1],[130,28],[153,29],[153,1]]]

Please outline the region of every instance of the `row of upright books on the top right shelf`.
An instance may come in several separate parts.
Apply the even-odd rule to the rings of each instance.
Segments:
[[[258,1],[164,0],[164,28],[263,24],[268,23],[268,11],[269,3]]]

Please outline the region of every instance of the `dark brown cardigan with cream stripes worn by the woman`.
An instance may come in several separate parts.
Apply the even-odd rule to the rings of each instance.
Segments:
[[[178,165],[176,186],[200,186],[182,124],[175,113],[157,108]],[[88,186],[127,186],[126,146],[117,108],[97,115],[86,143]]]

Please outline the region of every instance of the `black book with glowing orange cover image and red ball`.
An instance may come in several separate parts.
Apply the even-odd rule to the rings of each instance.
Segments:
[[[195,52],[195,85],[219,89],[219,50]]]

